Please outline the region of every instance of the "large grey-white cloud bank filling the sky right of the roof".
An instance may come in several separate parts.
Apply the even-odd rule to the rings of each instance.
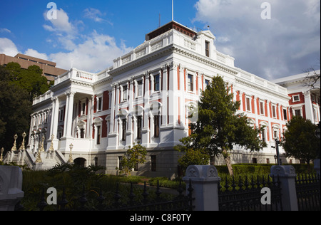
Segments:
[[[268,1],[270,20],[253,0],[199,0],[194,21],[210,25],[216,47],[235,66],[264,78],[302,73],[320,58],[320,1]]]

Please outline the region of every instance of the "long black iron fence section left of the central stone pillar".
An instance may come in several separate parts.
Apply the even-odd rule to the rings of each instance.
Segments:
[[[65,189],[61,197],[58,199],[55,210],[56,211],[193,211],[193,187],[191,182],[188,186],[188,193],[183,194],[184,189],[181,185],[178,187],[178,195],[168,200],[163,198],[159,182],[156,187],[154,197],[150,197],[146,182],[144,184],[141,194],[137,194],[133,191],[133,184],[131,183],[131,189],[128,196],[122,196],[119,188],[119,184],[116,185],[116,190],[112,199],[108,199],[103,196],[102,190],[97,192],[98,197],[93,199],[88,196],[90,190],[86,190],[83,187],[81,193],[79,193],[76,201],[70,202],[67,200]],[[136,194],[135,194],[136,193]],[[155,197],[156,195],[156,197]],[[45,191],[39,194],[39,203],[37,204],[37,210],[44,211],[49,208],[46,202]],[[19,202],[16,205],[16,211],[26,211],[23,205]],[[52,210],[52,207],[51,207]]]

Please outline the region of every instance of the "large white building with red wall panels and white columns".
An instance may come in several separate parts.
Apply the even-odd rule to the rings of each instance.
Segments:
[[[266,126],[261,138],[267,147],[255,153],[236,147],[231,161],[274,163],[274,138],[282,136],[290,120],[292,98],[282,85],[236,68],[234,58],[218,52],[214,40],[210,31],[196,33],[171,21],[101,73],[72,68],[60,75],[51,90],[34,100],[29,158],[36,157],[44,137],[45,150],[52,142],[57,161],[68,159],[73,144],[76,163],[103,165],[116,174],[123,154],[140,142],[148,149],[148,160],[133,174],[173,177],[180,157],[173,147],[188,135],[189,106],[220,75],[241,102],[240,111],[256,127]],[[320,94],[318,98],[320,120]]]

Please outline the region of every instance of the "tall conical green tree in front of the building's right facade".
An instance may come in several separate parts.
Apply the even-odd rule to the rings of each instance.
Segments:
[[[232,175],[229,151],[235,145],[251,152],[266,147],[259,138],[261,130],[251,127],[243,113],[237,113],[240,102],[233,101],[230,86],[222,77],[213,78],[198,105],[198,121],[192,124],[192,135],[180,140],[186,149],[203,150],[210,157],[223,155]]]

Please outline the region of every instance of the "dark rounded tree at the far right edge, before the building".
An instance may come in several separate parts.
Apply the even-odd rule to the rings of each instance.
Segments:
[[[295,157],[307,164],[317,157],[320,149],[320,140],[315,137],[317,125],[303,117],[293,117],[287,122],[287,130],[284,132],[284,140],[281,142],[286,157]]]

